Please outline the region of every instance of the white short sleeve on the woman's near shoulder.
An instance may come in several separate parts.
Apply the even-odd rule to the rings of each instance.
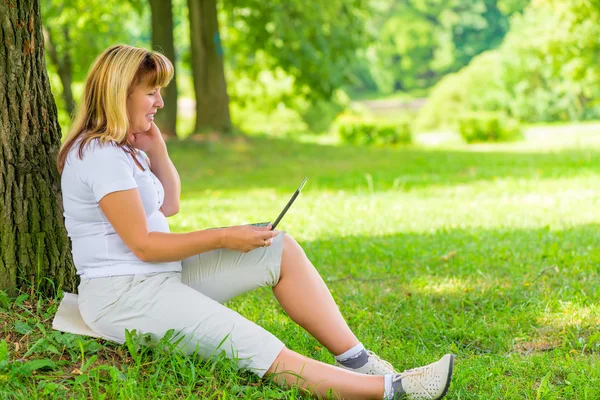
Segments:
[[[137,187],[129,157],[112,143],[92,143],[84,150],[79,176],[97,202],[109,193]]]

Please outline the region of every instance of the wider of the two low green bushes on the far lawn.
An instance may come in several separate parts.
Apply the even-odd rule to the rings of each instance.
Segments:
[[[408,122],[348,120],[337,124],[337,133],[343,142],[354,145],[385,146],[412,142]]]

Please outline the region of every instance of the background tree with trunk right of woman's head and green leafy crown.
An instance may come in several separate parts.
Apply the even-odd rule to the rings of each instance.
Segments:
[[[240,78],[257,87],[265,84],[261,75],[286,75],[293,80],[294,93],[283,101],[292,108],[331,100],[364,41],[365,4],[365,0],[188,0],[195,130],[223,130],[230,125],[229,100],[244,103],[251,97],[244,89],[235,92]],[[226,83],[225,72],[235,81]],[[254,87],[250,91],[256,92]]]

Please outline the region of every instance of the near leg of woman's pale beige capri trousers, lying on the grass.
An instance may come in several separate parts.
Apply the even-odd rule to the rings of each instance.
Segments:
[[[259,376],[285,345],[273,334],[181,283],[178,273],[82,279],[79,310],[102,337],[125,342],[125,329],[153,340],[173,329],[187,354],[208,359],[221,352]],[[175,338],[173,339],[175,340]]]

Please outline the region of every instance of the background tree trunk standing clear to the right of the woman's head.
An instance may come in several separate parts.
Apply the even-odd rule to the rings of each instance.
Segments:
[[[188,0],[192,71],[196,92],[196,133],[231,129],[216,0]]]

